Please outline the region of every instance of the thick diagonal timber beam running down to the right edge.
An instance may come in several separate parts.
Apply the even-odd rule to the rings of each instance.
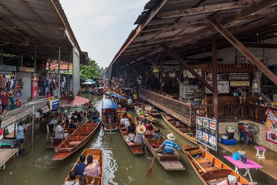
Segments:
[[[257,66],[274,84],[277,85],[277,77],[261,63],[242,43],[240,43],[222,24],[214,17],[208,17],[208,21],[220,32],[232,45],[234,45],[246,58]]]

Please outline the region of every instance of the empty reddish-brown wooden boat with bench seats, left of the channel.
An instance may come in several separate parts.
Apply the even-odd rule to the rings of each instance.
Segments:
[[[54,150],[56,155],[52,160],[63,160],[72,153],[81,149],[96,133],[101,124],[101,117],[98,118],[98,123],[92,123],[90,119],[84,125],[76,129],[68,138],[56,147]]]

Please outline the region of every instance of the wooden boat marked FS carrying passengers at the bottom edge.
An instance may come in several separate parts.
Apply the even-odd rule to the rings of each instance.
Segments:
[[[103,151],[100,149],[85,149],[81,155],[85,155],[86,157],[91,154],[93,156],[93,162],[98,162],[100,168],[101,168],[101,173],[99,174],[99,177],[94,177],[94,183],[93,184],[99,184],[99,185],[103,185]],[[71,169],[71,171],[75,171],[75,166],[76,164],[80,163],[80,159],[78,158],[78,160],[76,161],[76,163],[74,164],[73,168]],[[76,179],[79,179],[80,176],[77,175]],[[91,183],[91,181],[93,180],[93,177],[91,176],[87,176],[87,182]],[[70,181],[70,177],[69,174],[66,177],[63,185],[65,184],[66,181]]]

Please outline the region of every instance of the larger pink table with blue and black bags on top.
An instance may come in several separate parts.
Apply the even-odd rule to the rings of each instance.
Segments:
[[[232,158],[232,156],[223,156],[223,157],[226,158],[228,161],[230,161],[231,163],[233,163],[233,164],[235,165],[235,172],[239,173],[239,172],[238,172],[238,169],[246,169],[246,172],[245,172],[244,175],[242,175],[242,176],[246,176],[246,175],[248,174],[251,183],[255,183],[255,182],[253,182],[249,170],[250,170],[251,168],[255,168],[255,169],[263,168],[263,166],[257,164],[256,162],[252,161],[252,160],[249,159],[249,158],[246,158],[247,164],[244,164],[244,163],[242,163],[241,161],[236,161],[236,160],[234,160],[234,159]],[[255,183],[255,184],[257,184],[257,183]]]

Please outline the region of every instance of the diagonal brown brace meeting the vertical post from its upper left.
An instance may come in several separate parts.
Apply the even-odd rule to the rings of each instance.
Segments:
[[[214,88],[213,86],[211,86],[203,77],[201,77],[198,73],[196,73],[196,71],[194,71],[194,69],[192,69],[183,59],[181,59],[181,57],[179,57],[172,49],[170,49],[169,47],[167,47],[165,44],[161,45],[173,58],[175,58],[175,60],[177,60],[178,62],[180,62],[181,64],[183,64],[184,67],[186,67],[186,69],[188,69],[188,71],[190,71],[190,73],[192,73],[196,78],[198,78],[203,84],[205,84],[205,86],[207,88],[209,88],[209,90],[211,90],[212,92],[214,92]]]

